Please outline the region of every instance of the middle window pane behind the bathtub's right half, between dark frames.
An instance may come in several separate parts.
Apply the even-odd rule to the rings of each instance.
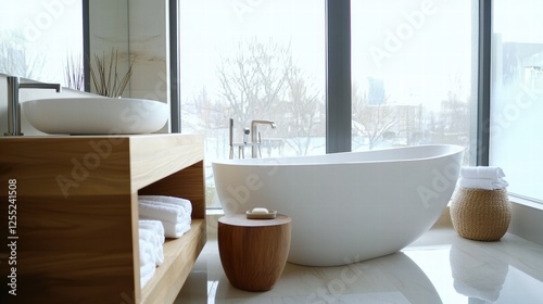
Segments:
[[[472,145],[477,8],[477,1],[351,1],[353,150]]]

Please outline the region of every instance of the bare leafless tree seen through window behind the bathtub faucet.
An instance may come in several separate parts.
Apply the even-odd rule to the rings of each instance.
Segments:
[[[185,103],[184,111],[191,115],[184,116],[200,118],[184,121],[184,125],[209,138],[222,137],[216,141],[224,144],[218,148],[223,152],[228,147],[225,130],[229,118],[236,126],[247,127],[252,119],[276,122],[274,137],[263,139],[263,150],[268,154],[288,149],[294,155],[306,155],[312,149],[324,147],[323,92],[295,65],[289,46],[274,40],[240,42],[238,51],[224,56],[217,65],[217,78],[220,87],[215,96],[203,87]],[[316,137],[323,138],[321,143],[313,140]]]

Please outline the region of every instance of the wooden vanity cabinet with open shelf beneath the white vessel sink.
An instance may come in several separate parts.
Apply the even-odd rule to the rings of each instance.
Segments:
[[[1,303],[172,303],[206,241],[200,136],[3,137],[0,177]],[[185,198],[193,208],[191,230],[166,240],[143,289],[138,194]]]

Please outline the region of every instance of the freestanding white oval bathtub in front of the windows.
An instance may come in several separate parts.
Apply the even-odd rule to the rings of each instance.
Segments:
[[[213,172],[225,214],[286,214],[288,261],[336,266],[394,253],[428,231],[451,199],[463,154],[457,145],[418,145],[226,160]]]

